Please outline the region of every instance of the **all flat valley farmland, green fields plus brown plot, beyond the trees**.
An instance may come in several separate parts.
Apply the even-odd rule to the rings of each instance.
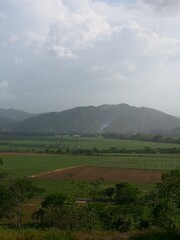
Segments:
[[[1,138],[0,168],[2,172],[8,173],[7,179],[2,183],[8,184],[9,181],[11,184],[11,180],[23,178],[45,190],[38,198],[22,205],[23,224],[34,224],[31,214],[41,207],[41,202],[49,194],[66,194],[81,201],[82,198],[89,199],[92,196],[103,197],[105,189],[112,189],[122,182],[128,182],[132,189],[138,188],[143,194],[149,194],[155,184],[161,182],[162,173],[180,168],[180,154],[162,154],[158,149],[178,149],[179,146],[102,137]],[[94,148],[101,151],[89,152]],[[119,153],[117,150],[121,148],[132,151]],[[155,150],[154,153],[147,153],[146,149],[149,148]],[[88,151],[80,152],[80,149]],[[137,149],[143,150],[136,153]],[[107,200],[106,197],[103,198]],[[9,220],[3,223],[9,223]]]

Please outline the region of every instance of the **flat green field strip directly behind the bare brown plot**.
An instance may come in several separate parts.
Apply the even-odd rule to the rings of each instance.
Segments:
[[[83,156],[50,154],[0,154],[2,170],[16,177],[31,176],[61,168],[93,165],[116,168],[172,170],[180,167],[178,154],[124,154],[118,156]]]

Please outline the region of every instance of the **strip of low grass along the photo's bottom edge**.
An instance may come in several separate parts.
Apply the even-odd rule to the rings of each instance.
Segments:
[[[57,230],[0,228],[0,240],[179,240],[178,233],[162,230],[118,232],[63,233]]]

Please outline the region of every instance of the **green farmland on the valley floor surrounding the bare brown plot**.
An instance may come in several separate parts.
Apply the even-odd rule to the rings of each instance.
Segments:
[[[77,154],[55,154],[55,151],[61,149],[65,151],[66,148],[97,148],[103,150],[106,149],[166,149],[166,148],[179,148],[178,144],[168,143],[155,143],[155,142],[143,142],[132,140],[117,140],[107,139],[103,137],[1,137],[0,138],[0,157],[3,159],[4,164],[1,169],[7,171],[11,177],[29,177],[40,173],[46,173],[57,169],[78,167],[81,165],[87,165],[90,167],[96,167],[96,178],[104,178],[102,187],[111,186],[122,178],[110,177],[114,173],[112,169],[134,169],[136,174],[137,170],[153,170],[159,171],[160,174],[163,171],[172,170],[180,167],[180,155],[179,154],[100,154],[100,155],[77,155]],[[53,154],[46,153],[46,150],[54,150]],[[99,168],[107,168],[107,175],[109,177],[103,177],[98,175]],[[94,170],[94,172],[96,171]],[[121,171],[122,171],[121,170]],[[93,173],[94,175],[95,173]],[[120,174],[120,173],[119,173]],[[156,173],[157,174],[157,173]],[[116,176],[118,174],[116,173]],[[122,175],[122,174],[121,174]],[[71,176],[71,173],[69,173]],[[86,176],[86,175],[84,175]],[[88,177],[85,179],[76,178],[75,182],[93,180],[94,177]],[[155,179],[159,179],[159,177]],[[74,191],[71,184],[72,177],[57,179],[33,179],[38,186],[47,189],[47,192],[72,192]],[[126,179],[124,179],[126,180]],[[53,184],[52,184],[53,181]],[[154,180],[155,182],[156,180]],[[133,179],[131,179],[133,183]],[[142,187],[142,189],[152,188],[153,180],[145,181],[146,183],[137,183],[136,185]]]

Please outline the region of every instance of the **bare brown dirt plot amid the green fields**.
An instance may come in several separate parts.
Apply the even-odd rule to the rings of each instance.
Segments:
[[[96,180],[102,178],[107,181],[156,183],[161,181],[161,174],[161,171],[82,165],[78,167],[59,169],[52,172],[45,172],[32,177],[50,180]]]

